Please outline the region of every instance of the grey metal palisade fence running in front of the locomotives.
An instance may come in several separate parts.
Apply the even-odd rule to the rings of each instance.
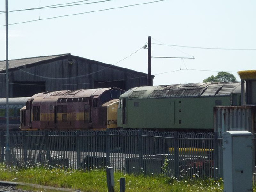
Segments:
[[[4,162],[6,132],[1,132]],[[145,130],[10,132],[15,166],[61,166],[173,177],[222,177],[222,139],[217,134]]]

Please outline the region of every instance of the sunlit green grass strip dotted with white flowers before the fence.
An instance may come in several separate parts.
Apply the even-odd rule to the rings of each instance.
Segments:
[[[182,179],[176,180],[166,175],[124,175],[120,172],[114,173],[115,191],[120,191],[119,179],[126,180],[127,192],[222,192],[223,181],[220,179]],[[80,189],[83,192],[106,192],[106,171],[105,169],[95,169],[91,171],[54,168],[49,166],[37,166],[27,169],[0,164],[0,180],[25,182],[39,184],[43,186],[53,186],[57,188]],[[22,187],[23,189],[25,187]],[[26,187],[27,190],[36,188]],[[37,189],[38,191],[51,190]],[[54,192],[56,190],[52,190]]]

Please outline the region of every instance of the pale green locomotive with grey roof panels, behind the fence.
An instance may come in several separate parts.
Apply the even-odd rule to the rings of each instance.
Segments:
[[[212,130],[214,106],[241,105],[241,82],[135,87],[122,94],[118,127]]]

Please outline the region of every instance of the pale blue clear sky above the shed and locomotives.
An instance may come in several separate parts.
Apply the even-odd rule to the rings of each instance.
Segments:
[[[99,0],[90,0],[89,3]],[[66,8],[9,13],[9,24],[45,19],[154,0],[112,0]],[[8,0],[9,10],[37,8],[75,0]],[[218,72],[256,69],[255,0],[166,0],[108,11],[47,19],[9,26],[9,59],[71,53],[75,56],[115,64],[147,43],[207,48],[255,49],[218,50],[152,45],[152,56],[195,59],[152,58],[154,85],[202,82]],[[5,1],[0,1],[5,11]],[[0,12],[0,26],[5,14]],[[5,60],[5,26],[0,27],[0,60]],[[117,66],[147,73],[147,49]],[[180,70],[180,69],[194,70]],[[178,70],[178,71],[176,71]],[[197,71],[197,70],[210,70]],[[175,71],[175,72],[172,72]]]

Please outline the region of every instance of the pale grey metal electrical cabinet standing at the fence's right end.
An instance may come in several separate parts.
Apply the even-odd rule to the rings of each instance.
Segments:
[[[224,192],[252,190],[252,133],[228,131],[223,133]]]

